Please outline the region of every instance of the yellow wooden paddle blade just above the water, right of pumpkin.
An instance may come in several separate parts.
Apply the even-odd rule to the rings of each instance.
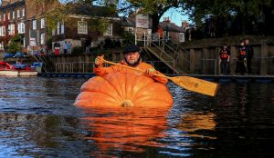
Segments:
[[[168,79],[172,80],[175,84],[183,87],[186,90],[210,96],[216,95],[218,87],[218,84],[216,83],[208,82],[190,76],[168,77]]]

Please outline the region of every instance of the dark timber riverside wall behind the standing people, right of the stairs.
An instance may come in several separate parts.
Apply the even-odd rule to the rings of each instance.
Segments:
[[[229,38],[229,40],[206,39],[182,44],[188,50],[191,74],[220,74],[218,54],[223,44],[227,44],[230,49],[229,74],[235,74],[239,42],[240,39],[245,38],[249,39],[249,43],[254,48],[252,74],[274,75],[274,38],[262,36],[241,36],[234,39]]]

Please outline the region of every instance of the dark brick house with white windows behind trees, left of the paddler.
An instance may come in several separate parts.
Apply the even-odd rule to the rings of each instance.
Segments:
[[[58,22],[57,29],[52,32],[52,41],[60,44],[60,53],[63,53],[65,41],[70,42],[73,47],[85,47],[85,42],[90,37],[91,47],[104,44],[105,41],[120,41],[121,19],[112,12],[110,8],[97,5],[74,4],[67,20]],[[99,19],[108,22],[105,33],[98,31]]]

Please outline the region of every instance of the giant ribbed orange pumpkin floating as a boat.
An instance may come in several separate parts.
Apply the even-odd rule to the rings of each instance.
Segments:
[[[76,99],[79,107],[90,106],[147,106],[173,104],[172,95],[164,84],[138,74],[107,74],[96,76],[82,85]]]

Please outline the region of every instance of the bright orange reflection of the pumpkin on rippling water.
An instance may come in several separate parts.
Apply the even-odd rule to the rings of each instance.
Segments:
[[[94,141],[101,154],[108,154],[111,151],[143,152],[143,146],[161,148],[163,144],[155,140],[165,137],[163,131],[167,127],[168,109],[167,107],[94,107],[92,111],[85,109],[87,116],[82,118],[82,123],[90,133],[85,139]]]

